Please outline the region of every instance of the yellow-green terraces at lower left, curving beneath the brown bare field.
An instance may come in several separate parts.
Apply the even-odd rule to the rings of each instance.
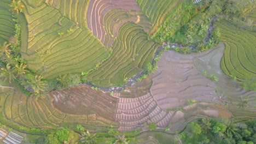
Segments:
[[[59,96],[56,95],[56,97]],[[109,119],[106,113],[104,113],[106,117],[98,116],[97,113],[84,113],[84,115],[63,113],[51,104],[53,100],[50,96],[35,100],[33,97],[26,97],[26,95],[14,91],[1,91],[1,117],[5,117],[8,123],[14,122],[28,128],[54,128],[63,123],[86,124],[92,127],[108,127],[108,125],[117,127],[117,123]],[[96,107],[106,109],[104,105]]]

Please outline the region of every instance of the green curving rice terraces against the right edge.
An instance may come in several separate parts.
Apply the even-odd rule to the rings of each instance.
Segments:
[[[256,32],[237,28],[226,21],[218,23],[225,44],[221,68],[226,75],[242,81],[256,76]]]

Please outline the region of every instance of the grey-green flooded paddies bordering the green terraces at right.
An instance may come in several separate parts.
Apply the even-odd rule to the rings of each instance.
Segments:
[[[226,50],[224,51],[224,47],[225,45],[220,43],[216,49],[212,50],[212,52],[195,58],[195,68],[198,71],[208,71],[210,74],[214,74],[219,78],[219,81],[216,82],[216,86],[221,101],[236,103],[241,97],[248,97],[248,104],[250,106],[255,106],[256,92],[243,89],[239,86],[237,81],[231,80],[228,76],[222,73],[222,69],[220,69],[222,66],[220,65],[220,61],[223,62],[223,59],[221,58],[223,57],[223,53],[225,55],[226,52]]]

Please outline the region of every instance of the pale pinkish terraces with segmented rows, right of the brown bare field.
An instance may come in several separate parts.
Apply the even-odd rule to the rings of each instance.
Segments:
[[[150,93],[138,98],[119,98],[115,118],[119,130],[135,130],[146,127],[153,122],[158,128],[167,127],[173,111],[164,111],[153,99]]]

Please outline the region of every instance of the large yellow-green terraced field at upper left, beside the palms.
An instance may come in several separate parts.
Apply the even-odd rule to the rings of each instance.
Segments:
[[[83,13],[78,10],[84,9],[87,1],[83,2],[84,4],[77,4],[77,10],[73,10],[66,7],[68,3],[59,1],[52,3],[54,7],[42,2],[24,1],[28,44],[27,47],[22,47],[22,57],[26,59],[30,69],[37,70],[45,79],[81,73],[95,67],[96,63],[108,56],[106,47],[83,23],[85,19],[78,19],[83,17]],[[73,32],[68,33],[69,29]],[[64,35],[59,36],[60,32]],[[46,51],[50,51],[50,55]]]

